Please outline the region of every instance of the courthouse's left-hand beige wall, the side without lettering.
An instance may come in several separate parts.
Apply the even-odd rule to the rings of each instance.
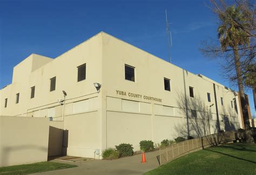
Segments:
[[[102,149],[100,144],[101,97],[93,86],[102,82],[102,34],[72,48],[56,59],[48,59],[32,54],[14,68],[13,83],[1,90],[1,102],[8,98],[8,107],[1,104],[3,115],[28,117],[52,117],[53,121],[63,121],[63,108],[57,102],[63,99],[62,90],[68,94],[63,128],[50,126],[49,156],[58,155],[58,146],[53,146],[58,129],[68,137],[63,143],[64,153],[70,156],[94,157],[95,149]],[[77,67],[86,64],[86,79],[77,82]],[[56,76],[56,90],[50,92],[50,79]],[[35,97],[30,99],[31,87],[35,86]],[[16,94],[20,93],[16,104]],[[98,98],[97,98],[98,97]],[[90,126],[93,124],[93,128]],[[55,129],[56,128],[56,129]],[[60,131],[60,130],[59,130]],[[86,136],[86,137],[85,137]],[[55,143],[60,144],[60,141]]]

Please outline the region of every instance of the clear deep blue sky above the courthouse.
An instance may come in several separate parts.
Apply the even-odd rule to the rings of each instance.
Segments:
[[[12,68],[31,53],[56,58],[100,31],[167,60],[165,9],[172,23],[172,63],[230,87],[220,61],[199,51],[201,41],[217,39],[218,20],[204,2],[0,0],[0,87],[11,83]]]

